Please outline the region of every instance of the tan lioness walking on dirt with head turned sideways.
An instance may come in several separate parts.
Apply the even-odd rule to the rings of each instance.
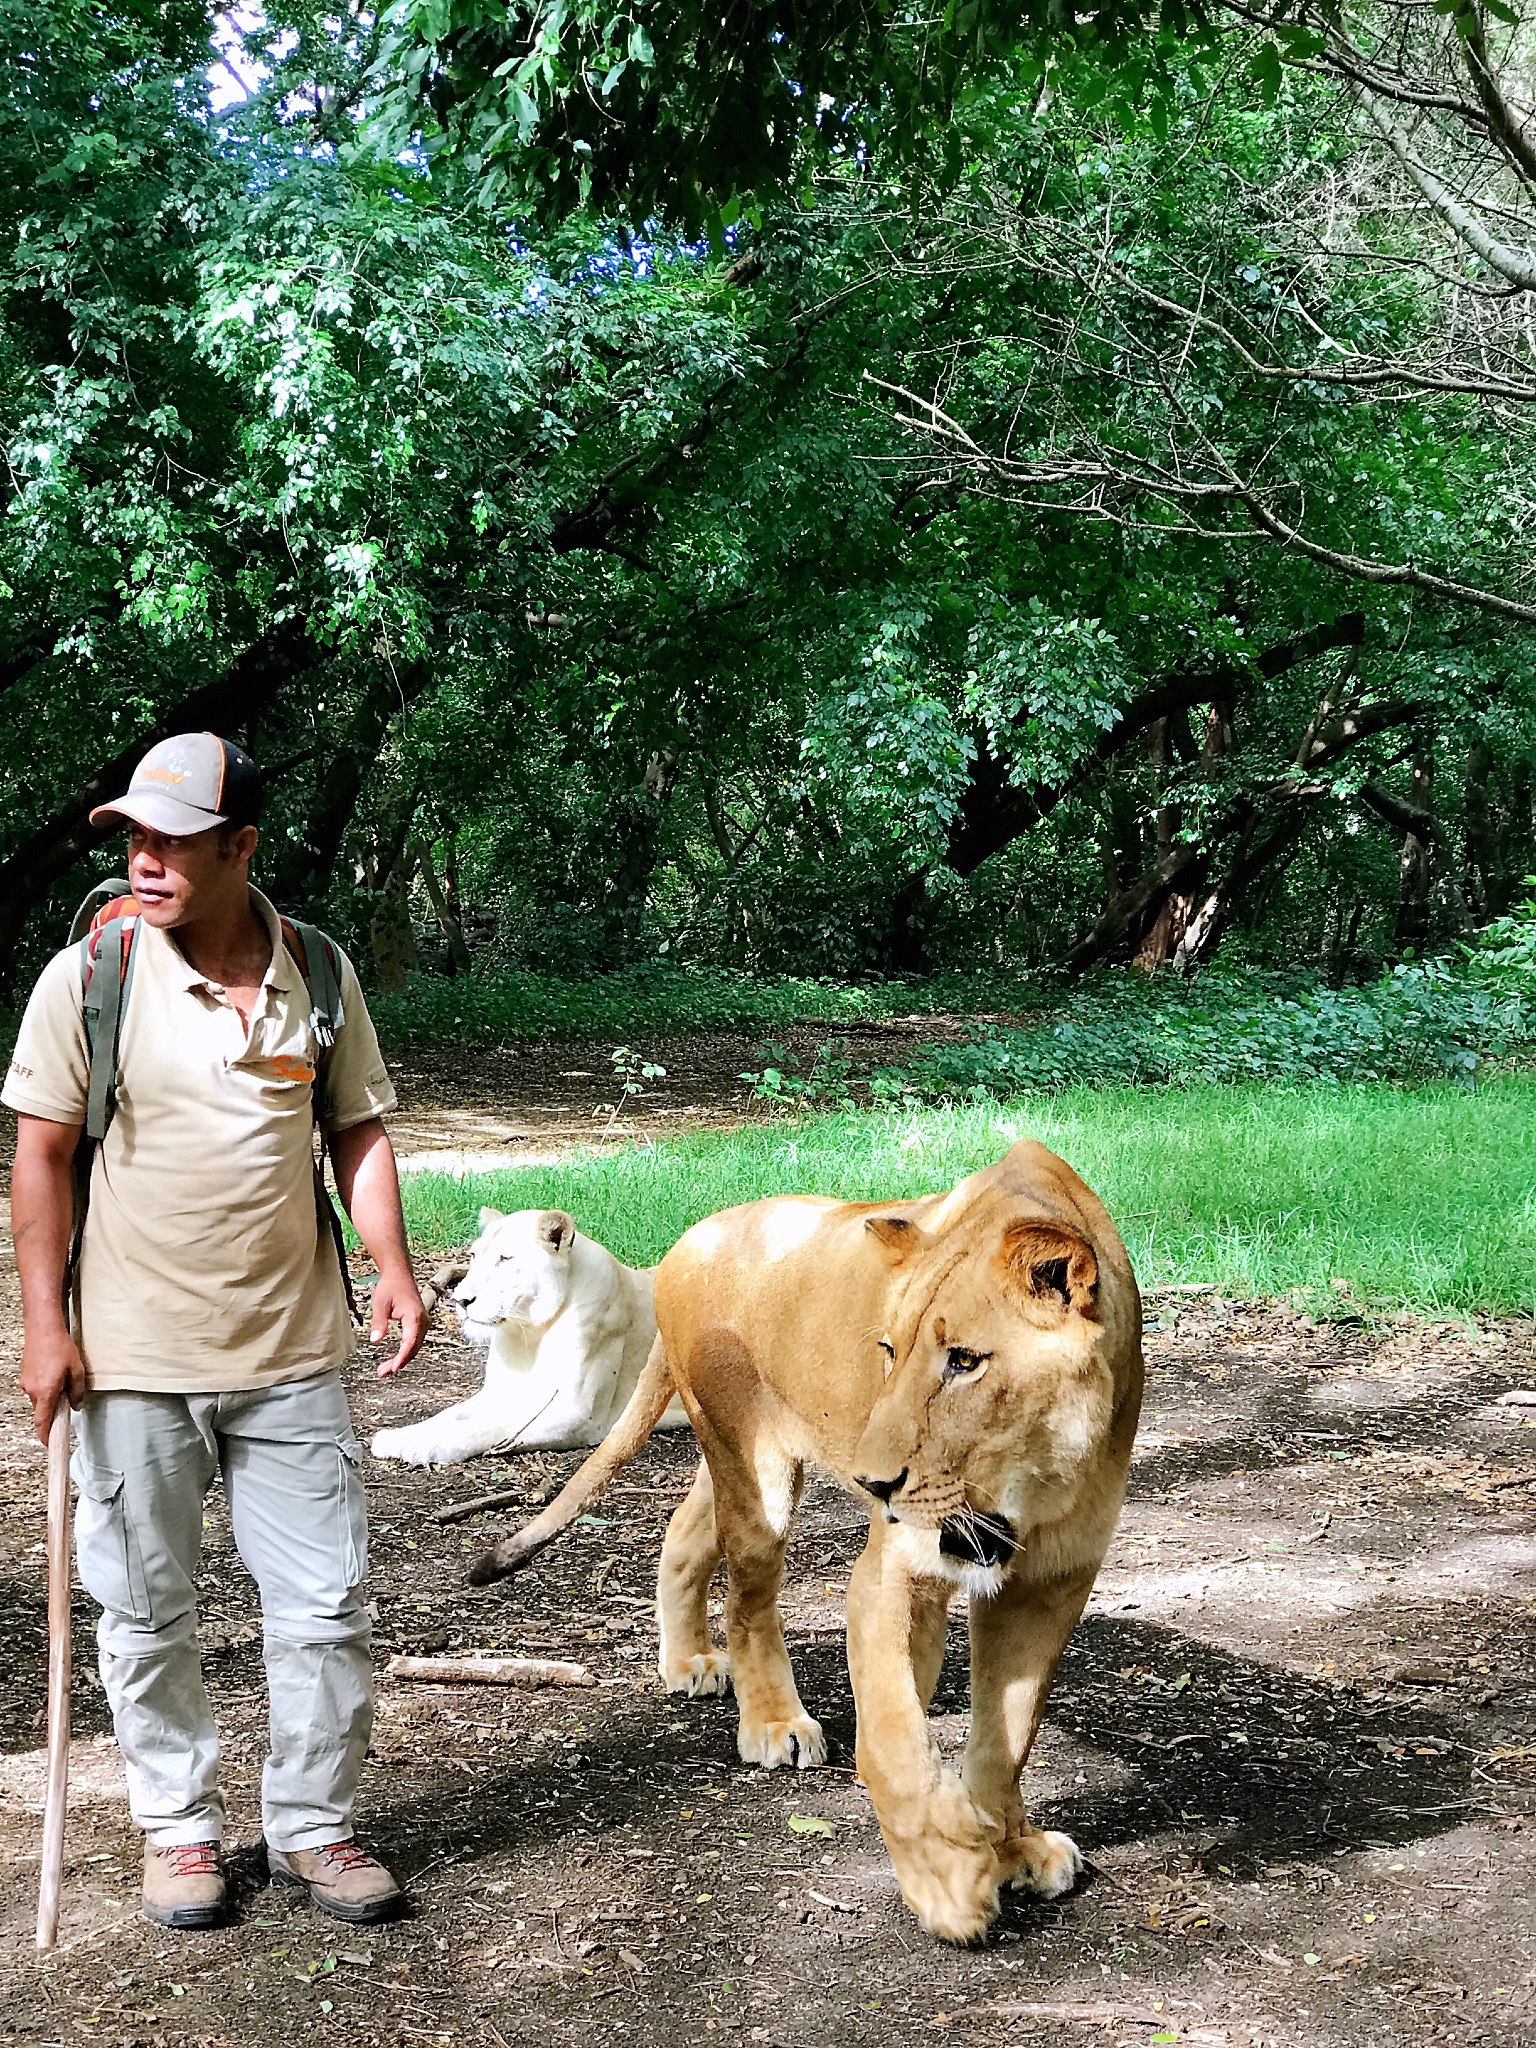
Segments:
[[[748,1202],[674,1245],[655,1315],[604,1444],[471,1579],[516,1571],[565,1528],[676,1389],[705,1458],[662,1550],[668,1688],[733,1683],[750,1763],[825,1761],[778,1614],[805,1466],[823,1466],[872,1503],[848,1669],[858,1772],[907,1903],[965,1942],[1004,1884],[1065,1892],[1081,1858],[1030,1825],[1020,1772],[1120,1513],[1141,1409],[1141,1296],[1100,1202],[1032,1143],[913,1202]],[[729,1659],[709,1640],[721,1556]],[[928,1731],[954,1587],[971,1595],[958,1778]]]

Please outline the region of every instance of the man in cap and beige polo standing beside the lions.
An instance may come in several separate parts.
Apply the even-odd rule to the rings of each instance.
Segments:
[[[143,1829],[143,1911],[162,1927],[223,1915],[217,1735],[197,1645],[203,1497],[223,1479],[262,1599],[270,1755],[266,1862],[322,1911],[399,1911],[352,1839],[373,1720],[362,1602],[367,1509],[340,1368],[352,1352],[340,1260],[313,1190],[313,1126],[377,1270],[371,1341],[391,1321],[395,1372],[422,1341],[395,1157],[395,1092],[356,975],[315,1042],[299,963],[250,887],[260,778],[240,748],[182,733],[152,748],[119,803],[139,903],[117,1112],[94,1149],[90,1206],[63,1305],[70,1161],[86,1120],[80,946],[33,989],[0,1096],[18,1112],[12,1233],[20,1384],[47,1440],[76,1407],[80,1579],[100,1604],[100,1675]],[[104,952],[92,973],[117,973]],[[74,1329],[72,1329],[74,1321]]]

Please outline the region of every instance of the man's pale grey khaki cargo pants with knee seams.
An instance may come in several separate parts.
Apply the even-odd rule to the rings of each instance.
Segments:
[[[113,1391],[76,1415],[80,1579],[102,1608],[100,1675],[133,1819],[158,1847],[223,1831],[195,1587],[215,1477],[262,1599],[262,1831],[285,1851],[350,1837],[373,1726],[358,1466],[336,1372],[236,1395]]]

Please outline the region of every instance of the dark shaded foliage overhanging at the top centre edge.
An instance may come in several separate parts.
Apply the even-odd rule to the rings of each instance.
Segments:
[[[1165,82],[1159,18],[1188,29],[1198,6],[1087,0],[1092,39],[1128,100]],[[1055,31],[1055,37],[1053,37]],[[393,141],[449,143],[481,197],[514,213],[575,207],[645,221],[666,213],[715,242],[756,201],[858,160],[954,178],[956,94],[989,66],[1026,68],[1061,39],[1049,0],[397,0],[383,16],[375,123]]]

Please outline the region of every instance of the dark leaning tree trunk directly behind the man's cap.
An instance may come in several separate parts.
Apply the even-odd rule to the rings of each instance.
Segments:
[[[90,823],[98,803],[121,797],[139,760],[186,731],[236,731],[266,707],[276,692],[313,668],[315,647],[303,621],[274,627],[229,664],[213,682],[172,705],[152,727],[121,748],[68,797],[66,803],[8,860],[0,862],[0,967],[8,967],[20,930],[33,911],[47,905],[49,889],[104,842]]]

